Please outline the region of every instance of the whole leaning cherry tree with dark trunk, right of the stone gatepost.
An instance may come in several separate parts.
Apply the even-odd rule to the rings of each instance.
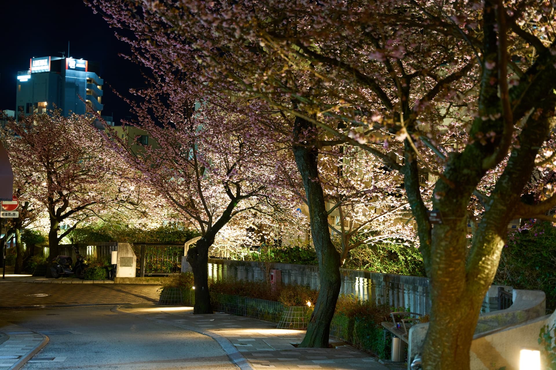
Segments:
[[[291,160],[275,136],[265,136],[244,116],[197,93],[183,94],[185,80],[170,75],[150,83],[134,92],[137,100],[129,103],[137,120],[128,123],[156,144],[133,153],[112,135],[113,148],[200,232],[201,239],[187,252],[196,287],[193,313],[212,313],[207,263],[217,234],[222,229],[245,234],[253,223],[291,219],[296,199],[281,185],[284,175],[291,176]],[[195,95],[202,103],[193,100]]]

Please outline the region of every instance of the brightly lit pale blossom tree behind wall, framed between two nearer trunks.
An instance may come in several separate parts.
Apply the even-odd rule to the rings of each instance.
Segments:
[[[363,244],[400,240],[413,245],[415,222],[395,171],[358,146],[319,150],[319,179],[332,235],[340,242],[340,263]],[[420,180],[426,186],[426,179]],[[430,187],[427,188],[430,192]],[[423,189],[425,192],[425,189]],[[335,239],[333,237],[333,239]]]

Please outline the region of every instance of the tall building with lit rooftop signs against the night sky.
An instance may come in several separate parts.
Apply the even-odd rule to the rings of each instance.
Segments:
[[[17,74],[16,112],[19,116],[21,111],[28,115],[58,108],[67,116],[85,114],[88,104],[101,114],[103,83],[97,63],[74,58],[31,58],[29,69]]]

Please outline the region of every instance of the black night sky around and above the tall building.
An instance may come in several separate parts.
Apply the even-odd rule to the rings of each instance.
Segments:
[[[125,102],[112,89],[126,95],[140,87],[140,68],[118,53],[129,47],[114,36],[100,14],[93,14],[82,0],[25,2],[5,1],[0,5],[0,110],[16,109],[16,76],[29,68],[31,57],[62,57],[69,41],[69,56],[100,64],[104,79],[103,115],[114,115],[116,123],[130,115]]]

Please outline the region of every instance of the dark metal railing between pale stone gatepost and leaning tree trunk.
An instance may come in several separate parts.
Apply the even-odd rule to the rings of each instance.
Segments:
[[[139,276],[181,272],[183,244],[133,244],[139,258]]]

